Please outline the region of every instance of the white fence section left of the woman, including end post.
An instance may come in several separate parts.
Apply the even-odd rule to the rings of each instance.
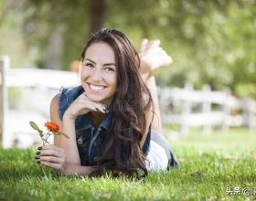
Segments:
[[[29,121],[43,124],[48,120],[48,108],[51,98],[60,87],[79,85],[76,72],[49,69],[10,69],[10,59],[0,58],[0,143],[7,148],[22,141],[25,146],[32,145],[37,134],[29,127]],[[11,111],[8,106],[8,88],[30,89],[23,105],[26,110]],[[37,89],[37,96],[35,96]],[[31,92],[31,93],[30,93]],[[37,108],[37,109],[36,109]],[[40,110],[38,110],[40,108]],[[29,135],[30,134],[30,135]],[[28,135],[30,137],[28,137]]]

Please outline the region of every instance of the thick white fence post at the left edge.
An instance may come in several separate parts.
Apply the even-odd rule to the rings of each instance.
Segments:
[[[7,141],[8,135],[6,133],[6,118],[8,110],[8,97],[6,87],[6,72],[10,66],[10,58],[7,56],[0,57],[0,146],[7,147],[9,142]]]

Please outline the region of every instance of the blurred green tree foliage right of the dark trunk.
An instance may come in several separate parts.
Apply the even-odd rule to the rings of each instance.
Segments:
[[[157,73],[160,85],[181,87],[188,80],[197,88],[229,86],[237,95],[240,84],[255,86],[255,1],[141,1],[132,9],[134,4],[119,4],[117,15],[130,17],[118,17],[123,21],[114,26],[133,36],[129,25],[136,24],[142,36],[161,39],[175,63]]]

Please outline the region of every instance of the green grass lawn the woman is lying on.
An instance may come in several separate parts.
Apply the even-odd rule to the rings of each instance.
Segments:
[[[255,132],[255,131],[254,131]],[[0,150],[1,200],[255,200],[227,195],[256,187],[256,132],[193,132],[172,142],[177,170],[144,180],[58,176],[34,161],[36,149]]]

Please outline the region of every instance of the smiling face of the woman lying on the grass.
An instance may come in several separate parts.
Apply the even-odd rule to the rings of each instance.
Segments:
[[[112,101],[117,90],[117,72],[114,52],[110,45],[99,42],[87,48],[80,79],[90,100]]]

